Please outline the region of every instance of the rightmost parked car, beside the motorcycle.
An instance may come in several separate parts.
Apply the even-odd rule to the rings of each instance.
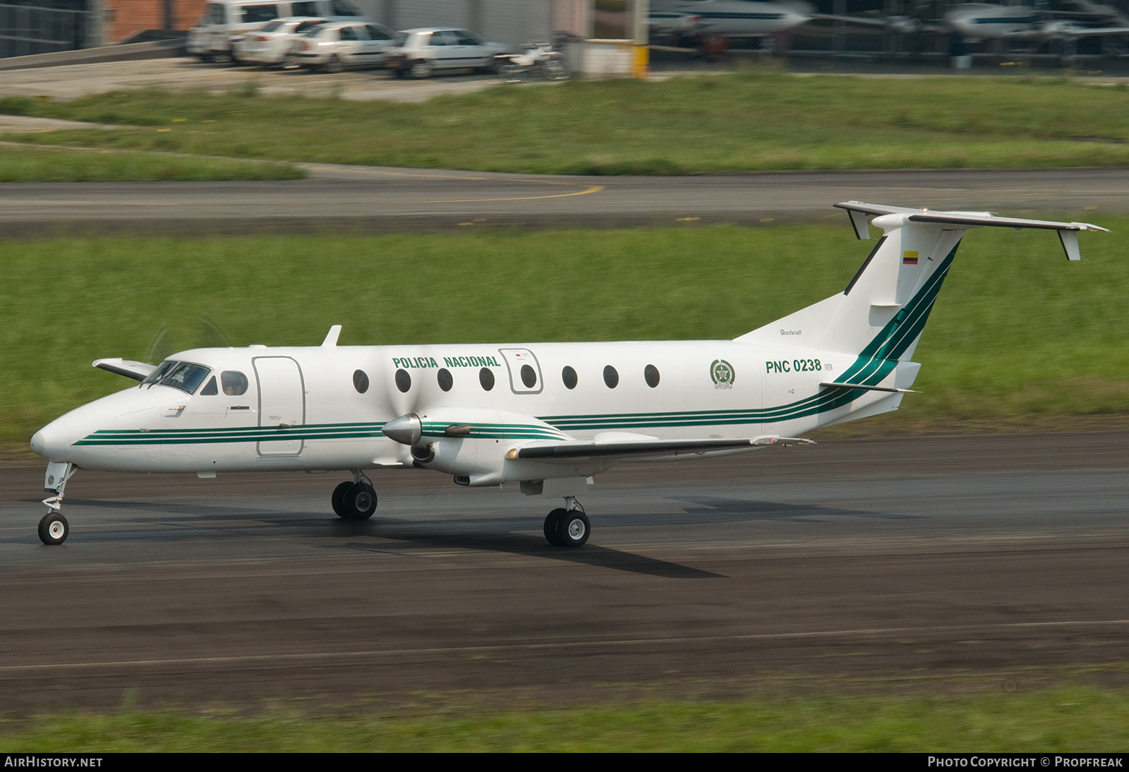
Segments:
[[[430,78],[439,70],[497,71],[498,54],[514,53],[513,46],[491,43],[470,29],[425,27],[396,33],[388,49],[388,67],[401,78]]]

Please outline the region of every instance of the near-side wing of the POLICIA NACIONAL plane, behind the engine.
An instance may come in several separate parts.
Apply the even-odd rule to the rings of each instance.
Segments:
[[[641,437],[641,436],[640,436]],[[717,453],[719,450],[752,450],[769,445],[814,445],[809,439],[763,435],[739,439],[611,439],[567,440],[562,442],[537,441],[514,448],[509,458],[536,458],[539,460],[576,458],[648,458],[654,456],[685,456]]]

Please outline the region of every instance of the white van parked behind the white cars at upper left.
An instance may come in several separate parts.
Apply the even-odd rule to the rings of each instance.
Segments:
[[[365,18],[351,0],[209,0],[200,24],[189,30],[189,53],[205,62],[228,61],[233,37],[288,16],[342,21]]]

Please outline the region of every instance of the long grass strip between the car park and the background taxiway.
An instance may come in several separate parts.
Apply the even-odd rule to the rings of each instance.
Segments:
[[[1129,89],[1064,78],[899,81],[749,71],[551,88],[499,84],[425,104],[255,96],[248,88],[10,97],[0,99],[0,112],[123,126],[18,137],[27,142],[495,172],[1129,164]]]

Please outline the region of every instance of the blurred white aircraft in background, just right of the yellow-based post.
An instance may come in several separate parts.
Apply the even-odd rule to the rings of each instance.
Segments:
[[[805,2],[651,0],[648,26],[656,36],[764,37],[809,21],[812,10]]]

